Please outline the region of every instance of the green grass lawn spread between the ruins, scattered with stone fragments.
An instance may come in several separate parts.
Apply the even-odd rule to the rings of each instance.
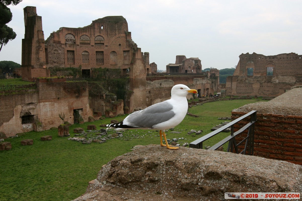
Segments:
[[[221,123],[220,117],[231,115],[234,108],[259,100],[230,100],[210,102],[189,108],[189,112],[199,115],[198,118],[186,116],[181,124],[171,133],[166,131],[167,138],[183,137],[181,142],[192,142],[210,133],[210,129]],[[126,117],[114,118],[118,121]],[[59,117],[58,117],[59,118]],[[100,129],[101,124],[110,123],[110,118],[85,124],[74,124],[69,127],[71,137],[73,129],[95,124]],[[201,135],[187,134],[191,129],[203,130]],[[108,134],[114,133],[110,131]],[[204,145],[210,146],[230,133],[222,133],[207,140]],[[53,140],[41,141],[40,137],[52,135]],[[130,152],[135,145],[156,144],[159,146],[159,133],[155,130],[126,130],[124,137],[108,140],[106,143],[82,144],[59,137],[58,130],[43,132],[19,133],[19,137],[9,138],[12,149],[0,152],[0,200],[34,200],[34,201],[69,201],[85,193],[88,182],[97,177],[102,165],[118,155]],[[21,140],[33,139],[31,146],[21,146]]]

